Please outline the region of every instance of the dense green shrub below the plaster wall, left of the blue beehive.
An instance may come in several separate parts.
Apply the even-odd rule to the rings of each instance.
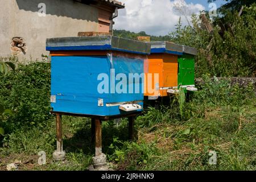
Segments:
[[[50,63],[19,64],[0,75],[0,103],[13,110],[5,122],[7,132],[20,127],[44,126],[50,110]]]

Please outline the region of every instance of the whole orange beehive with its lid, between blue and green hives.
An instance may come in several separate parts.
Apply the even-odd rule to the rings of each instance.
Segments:
[[[167,96],[167,90],[177,88],[178,56],[183,47],[170,42],[151,42],[148,56],[144,96]]]

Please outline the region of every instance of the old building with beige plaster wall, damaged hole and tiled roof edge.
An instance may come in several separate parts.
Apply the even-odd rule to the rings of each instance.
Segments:
[[[0,0],[0,56],[42,59],[46,39],[110,32],[124,5],[115,0]]]

